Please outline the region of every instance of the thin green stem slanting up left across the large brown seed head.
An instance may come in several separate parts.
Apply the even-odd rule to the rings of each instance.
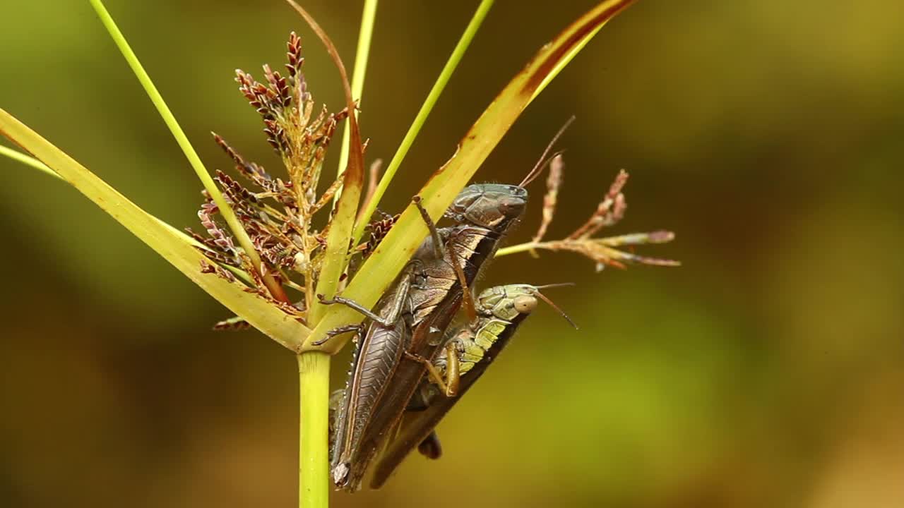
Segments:
[[[239,241],[239,245],[242,249],[245,250],[245,254],[248,255],[248,257],[251,259],[251,264],[254,266],[254,269],[257,270],[259,274],[261,274],[262,272],[260,269],[260,255],[257,249],[254,249],[254,244],[251,242],[251,239],[248,236],[248,232],[246,232],[245,229],[241,227],[239,218],[236,217],[235,212],[232,211],[231,206],[228,202],[226,202],[226,199],[220,192],[220,188],[217,187],[216,183],[213,182],[211,174],[207,172],[207,168],[205,168],[203,163],[201,162],[201,157],[198,156],[197,152],[194,151],[194,147],[188,141],[188,136],[185,136],[185,133],[182,130],[182,127],[179,126],[179,122],[176,121],[173,112],[170,111],[170,108],[168,106],[166,106],[166,102],[163,96],[160,95],[159,91],[157,91],[154,82],[147,74],[147,71],[145,71],[145,68],[141,65],[141,62],[138,61],[138,57],[135,52],[133,52],[132,48],[129,47],[128,42],[126,41],[126,37],[122,34],[122,32],[119,31],[116,22],[113,21],[113,17],[110,16],[107,8],[104,7],[104,4],[101,0],[89,0],[89,2],[91,6],[94,7],[94,10],[98,13],[100,22],[104,24],[104,27],[107,28],[107,32],[110,34],[113,42],[116,42],[116,45],[119,48],[119,52],[121,52],[122,56],[126,59],[128,66],[132,69],[132,72],[135,73],[138,82],[140,82],[141,86],[145,89],[147,97],[151,99],[152,103],[154,103],[154,107],[157,109],[157,113],[161,118],[163,118],[166,127],[169,127],[176,143],[178,143],[179,147],[182,148],[185,158],[187,158],[189,164],[192,165],[194,173],[198,175],[198,178],[204,185],[204,189],[206,189],[207,192],[211,194],[213,202],[215,202],[217,208],[220,209],[220,214],[223,220],[226,221],[227,225],[229,225],[232,234],[235,235],[236,240]],[[264,284],[268,287],[270,294],[274,298],[286,302],[288,301],[286,292],[271,274],[263,274],[261,278],[263,279]]]

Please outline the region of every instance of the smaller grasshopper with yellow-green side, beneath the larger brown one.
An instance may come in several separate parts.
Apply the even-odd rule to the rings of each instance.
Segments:
[[[543,287],[554,286],[560,285],[512,284],[490,287],[476,298],[476,318],[449,334],[447,347],[440,351],[428,367],[429,375],[421,381],[418,393],[410,400],[396,436],[375,467],[372,488],[380,488],[413,447],[417,446],[419,452],[429,458],[441,455],[442,448],[434,428],[502,352],[518,326],[537,307],[538,298],[546,301],[574,325],[568,315],[540,292]],[[436,381],[450,375],[459,379],[457,393],[450,394],[447,386]]]

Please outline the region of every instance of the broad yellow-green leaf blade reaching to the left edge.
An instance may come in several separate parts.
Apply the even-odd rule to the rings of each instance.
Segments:
[[[185,277],[273,340],[296,350],[310,334],[305,325],[259,296],[243,291],[239,284],[232,284],[215,275],[202,274],[201,263],[206,259],[184,235],[129,201],[4,109],[0,109],[0,133],[35,155],[63,180],[71,183],[148,247],[163,256]]]

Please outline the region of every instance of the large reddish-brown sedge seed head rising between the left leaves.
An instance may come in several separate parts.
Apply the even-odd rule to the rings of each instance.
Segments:
[[[239,278],[233,279],[244,284],[247,291],[304,321],[330,227],[328,217],[315,223],[315,214],[328,208],[342,184],[335,180],[318,192],[320,176],[326,149],[348,111],[343,109],[332,114],[323,106],[315,114],[314,98],[302,71],[305,59],[301,39],[296,33],[290,33],[286,46],[285,71],[264,65],[263,79],[258,81],[250,73],[238,70],[236,81],[241,94],[259,113],[268,144],[286,166],[287,179],[271,175],[263,166],[241,156],[222,136],[214,134],[213,140],[241,176],[239,180],[217,171],[214,180],[258,251],[263,274],[272,275],[284,288],[295,290],[301,301],[293,306],[270,296],[247,253],[219,223],[220,211],[206,193],[198,212],[206,235],[194,232],[192,235],[202,244],[199,249],[211,263],[220,270],[231,268],[241,282]],[[220,273],[210,268],[205,271]],[[232,275],[230,271],[226,273]]]

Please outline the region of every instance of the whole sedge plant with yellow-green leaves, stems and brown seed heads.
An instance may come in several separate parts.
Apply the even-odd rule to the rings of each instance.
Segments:
[[[428,98],[391,158],[386,171],[371,178],[365,192],[363,136],[357,122],[377,1],[364,0],[362,26],[351,80],[344,62],[325,30],[293,0],[286,0],[308,24],[334,61],[344,90],[345,104],[330,112],[318,106],[304,75],[302,40],[291,33],[287,62],[282,70],[264,66],[263,77],[237,71],[241,94],[264,124],[267,142],[285,165],[285,172],[270,172],[240,155],[221,136],[214,141],[229,157],[240,179],[222,172],[211,174],[166,107],[147,72],[129,48],[101,0],[89,0],[131,70],[146,90],[166,126],[203,185],[198,212],[202,230],[178,230],[130,202],[126,196],[32,129],[0,109],[0,133],[24,150],[0,146],[0,155],[12,157],[60,178],[95,202],[148,247],[169,261],[236,315],[222,328],[248,325],[283,345],[297,356],[299,380],[299,506],[322,508],[328,504],[327,427],[330,356],[348,336],[322,345],[318,339],[339,326],[360,322],[362,316],[344,306],[324,306],[341,291],[363,306],[373,306],[392,284],[428,231],[412,205],[391,221],[370,221],[381,196],[402,167],[419,129],[438,101],[457,63],[464,56],[492,0],[483,0],[450,55]],[[471,180],[487,155],[512,127],[533,99],[599,32],[634,0],[605,0],[593,6],[544,45],[502,89],[474,125],[457,143],[454,155],[433,174],[425,174],[419,191],[429,215],[438,220],[457,193]],[[325,170],[326,150],[343,128],[340,164]],[[29,155],[30,154],[30,155]],[[500,250],[497,255],[540,249],[578,252],[597,263],[674,264],[617,250],[623,245],[662,242],[666,231],[594,239],[602,227],[614,224],[625,210],[621,192],[626,174],[617,176],[598,209],[584,225],[562,240],[543,240],[552,220],[561,183],[560,156],[550,162],[543,219],[534,239]],[[318,192],[321,178],[331,182]],[[370,235],[367,233],[370,232]],[[360,261],[362,251],[368,254]],[[360,266],[358,266],[360,265]]]

